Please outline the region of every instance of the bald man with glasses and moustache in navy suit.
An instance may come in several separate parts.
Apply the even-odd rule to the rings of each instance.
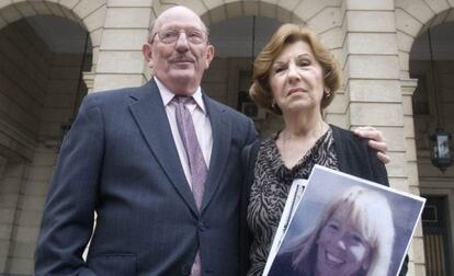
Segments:
[[[65,138],[36,275],[240,274],[240,156],[253,124],[201,90],[214,47],[191,10],[161,13],[143,51],[152,80],[89,94]]]

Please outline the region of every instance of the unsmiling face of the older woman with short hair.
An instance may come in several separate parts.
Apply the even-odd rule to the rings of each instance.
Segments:
[[[270,70],[270,88],[279,107],[320,110],[324,70],[306,42],[286,45]]]

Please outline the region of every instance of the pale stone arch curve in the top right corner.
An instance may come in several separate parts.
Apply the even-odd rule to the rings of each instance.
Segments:
[[[454,21],[454,2],[450,1],[395,1],[397,47],[400,78],[409,79],[410,51],[417,37],[428,27]]]

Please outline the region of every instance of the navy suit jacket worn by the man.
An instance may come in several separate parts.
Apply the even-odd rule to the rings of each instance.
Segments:
[[[156,83],[86,96],[52,180],[36,275],[189,275],[198,248],[203,275],[238,274],[240,152],[257,133],[203,99],[213,151],[198,211]]]

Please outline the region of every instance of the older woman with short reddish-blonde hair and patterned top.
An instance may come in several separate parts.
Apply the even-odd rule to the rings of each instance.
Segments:
[[[242,202],[248,275],[262,274],[292,182],[307,179],[315,164],[388,185],[386,169],[367,140],[324,120],[340,83],[330,51],[298,25],[281,26],[254,61],[250,95],[282,115],[285,126],[243,152],[249,173]]]

